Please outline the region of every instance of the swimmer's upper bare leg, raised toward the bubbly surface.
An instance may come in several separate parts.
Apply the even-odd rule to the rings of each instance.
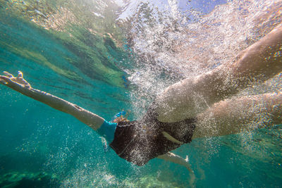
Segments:
[[[158,120],[195,118],[212,104],[282,71],[282,26],[241,51],[233,63],[177,82],[157,98]]]

